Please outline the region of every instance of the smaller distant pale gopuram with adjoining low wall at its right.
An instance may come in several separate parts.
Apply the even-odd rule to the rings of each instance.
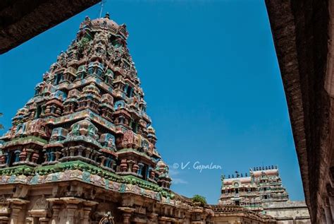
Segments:
[[[254,167],[249,174],[221,177],[220,205],[242,206],[272,216],[277,223],[311,223],[304,201],[290,201],[277,166]]]

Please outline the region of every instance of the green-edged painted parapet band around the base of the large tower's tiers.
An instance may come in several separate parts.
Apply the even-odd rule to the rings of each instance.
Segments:
[[[174,194],[157,184],[133,176],[120,176],[82,161],[57,163],[42,167],[20,165],[0,169],[0,184],[45,184],[78,180],[120,193],[135,193],[167,204],[174,204]]]

